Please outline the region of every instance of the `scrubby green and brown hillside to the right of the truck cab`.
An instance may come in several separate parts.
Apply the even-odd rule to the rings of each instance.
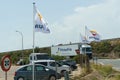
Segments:
[[[93,55],[97,57],[119,58],[120,39],[103,40],[91,43]]]

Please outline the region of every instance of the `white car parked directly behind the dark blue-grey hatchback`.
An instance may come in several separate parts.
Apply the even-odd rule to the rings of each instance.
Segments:
[[[68,71],[68,73],[71,73],[71,68],[69,66],[61,65],[55,60],[38,60],[38,61],[34,61],[34,63],[45,65],[49,67],[50,69],[53,69],[57,71],[58,73],[60,73],[61,76],[64,76],[65,71]]]

